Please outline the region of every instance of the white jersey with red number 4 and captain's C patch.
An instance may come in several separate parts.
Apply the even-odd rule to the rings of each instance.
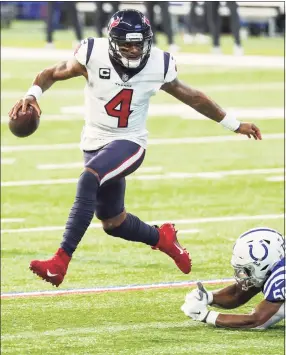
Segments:
[[[108,53],[108,39],[88,38],[74,56],[88,73],[82,150],[96,150],[114,140],[130,140],[146,148],[149,101],[164,83],[177,77],[174,58],[156,47],[134,76],[119,75]]]

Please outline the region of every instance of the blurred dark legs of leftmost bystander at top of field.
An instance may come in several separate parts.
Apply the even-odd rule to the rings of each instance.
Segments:
[[[80,42],[82,39],[82,29],[79,23],[78,14],[76,10],[75,1],[48,1],[47,8],[47,47],[53,47],[53,32],[55,31],[55,18],[56,11],[58,9],[65,11],[67,14],[69,22],[71,22],[77,41]]]

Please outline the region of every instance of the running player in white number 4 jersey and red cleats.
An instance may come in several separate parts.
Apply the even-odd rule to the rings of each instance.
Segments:
[[[174,58],[152,47],[152,36],[141,12],[118,11],[110,20],[108,38],[87,38],[72,59],[44,69],[9,112],[11,119],[17,119],[17,111],[22,107],[25,112],[30,104],[40,114],[38,99],[55,82],[78,76],[86,80],[81,137],[85,169],[75,202],[58,251],[49,260],[30,264],[34,273],[53,285],[62,283],[94,213],[107,234],[150,245],[169,255],[183,273],[191,271],[191,259],[173,224],[150,226],[124,206],[125,177],[143,162],[149,99],[157,91],[164,90],[236,133],[261,139],[254,124],[239,122],[205,94],[179,81]]]

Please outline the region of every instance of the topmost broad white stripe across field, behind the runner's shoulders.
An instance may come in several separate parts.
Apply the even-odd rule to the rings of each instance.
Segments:
[[[59,50],[47,48],[1,48],[1,60],[67,60],[73,57],[72,50]],[[192,66],[214,66],[234,68],[269,68],[283,69],[283,56],[241,56],[176,53],[178,64]]]

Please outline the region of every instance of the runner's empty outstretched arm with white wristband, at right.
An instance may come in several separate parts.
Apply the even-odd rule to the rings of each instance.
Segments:
[[[204,116],[221,123],[230,130],[245,134],[249,138],[252,136],[254,139],[261,139],[260,130],[253,123],[239,122],[234,117],[228,116],[218,104],[204,93],[183,84],[177,78],[163,84],[161,89],[182,101],[184,104],[191,106]]]

